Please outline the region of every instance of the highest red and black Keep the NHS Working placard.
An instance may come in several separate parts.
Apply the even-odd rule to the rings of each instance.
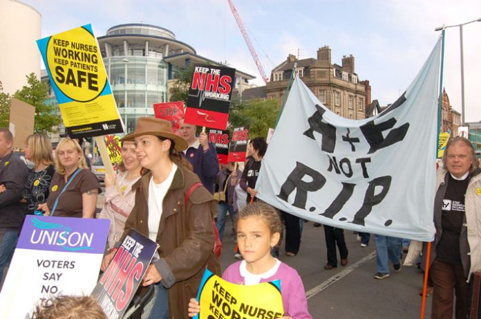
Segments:
[[[236,69],[196,64],[184,121],[189,124],[227,129]]]

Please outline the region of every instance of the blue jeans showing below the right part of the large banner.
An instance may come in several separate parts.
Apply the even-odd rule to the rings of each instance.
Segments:
[[[393,265],[400,264],[401,239],[374,235],[376,240],[376,264],[378,273],[389,273],[389,260]]]

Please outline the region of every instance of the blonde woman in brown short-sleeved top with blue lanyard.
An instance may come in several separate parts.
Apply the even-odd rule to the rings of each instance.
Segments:
[[[100,183],[88,170],[76,140],[64,138],[55,149],[55,174],[47,202],[39,205],[46,216],[93,218]]]

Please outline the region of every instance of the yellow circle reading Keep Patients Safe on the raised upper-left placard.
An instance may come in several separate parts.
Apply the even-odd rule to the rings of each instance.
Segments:
[[[52,80],[68,98],[88,102],[104,90],[107,81],[104,62],[97,39],[86,28],[50,37],[46,57]]]

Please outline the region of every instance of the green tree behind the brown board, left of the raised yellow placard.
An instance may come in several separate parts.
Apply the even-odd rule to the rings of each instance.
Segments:
[[[60,117],[57,116],[55,104],[45,104],[48,98],[48,86],[37,79],[35,73],[27,75],[28,85],[23,86],[13,95],[35,107],[35,133],[56,132],[55,127],[60,124]]]

